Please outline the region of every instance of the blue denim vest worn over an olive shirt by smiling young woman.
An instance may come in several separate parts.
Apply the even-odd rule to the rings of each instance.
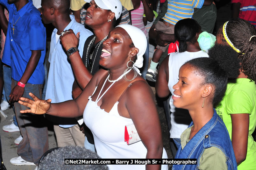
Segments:
[[[193,122],[188,127],[191,127]],[[198,169],[200,165],[200,158],[204,149],[210,147],[217,147],[222,150],[226,155],[226,164],[229,170],[237,169],[237,162],[235,158],[235,153],[232,147],[232,143],[229,137],[229,133],[224,122],[217,115],[214,109],[213,117],[207,122],[196,135],[185,145],[185,147],[179,147],[175,159],[197,159],[196,165],[173,165],[173,170],[179,169]],[[210,161],[210,160],[209,160]]]

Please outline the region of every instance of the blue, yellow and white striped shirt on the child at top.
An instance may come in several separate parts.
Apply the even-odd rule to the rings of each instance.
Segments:
[[[164,21],[175,25],[179,20],[192,18],[194,8],[202,8],[204,0],[168,0]]]

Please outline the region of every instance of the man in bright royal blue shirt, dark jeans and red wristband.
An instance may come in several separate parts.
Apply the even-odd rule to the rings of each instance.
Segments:
[[[13,165],[36,165],[48,150],[48,131],[41,115],[22,115],[20,97],[31,98],[28,93],[41,96],[44,82],[46,30],[39,11],[28,0],[0,0],[9,11],[9,23],[2,61],[11,66],[10,102],[15,114],[22,141],[18,145],[19,157],[10,160]]]

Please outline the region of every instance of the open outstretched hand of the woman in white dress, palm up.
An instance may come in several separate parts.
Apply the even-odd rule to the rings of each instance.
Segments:
[[[30,108],[27,110],[21,110],[20,113],[34,113],[37,115],[41,115],[41,114],[45,114],[50,109],[51,101],[52,101],[51,99],[41,100],[32,93],[29,93],[29,96],[31,96],[34,100],[21,97],[20,100],[18,101],[18,103]]]

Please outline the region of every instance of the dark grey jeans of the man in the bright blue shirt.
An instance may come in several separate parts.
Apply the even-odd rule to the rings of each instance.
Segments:
[[[17,85],[18,81],[12,79],[11,88]],[[29,92],[41,98],[42,84],[27,83],[24,89],[23,97],[30,98]],[[23,139],[18,145],[18,155],[28,162],[38,164],[41,156],[48,150],[48,130],[43,115],[32,113],[20,113],[20,110],[26,110],[28,107],[14,103],[15,114],[17,117],[20,133]]]

